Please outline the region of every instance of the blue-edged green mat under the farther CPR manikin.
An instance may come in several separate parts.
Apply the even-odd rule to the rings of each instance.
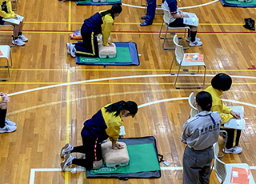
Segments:
[[[138,50],[134,42],[114,42],[117,47],[116,58],[90,58],[77,56],[75,63],[78,65],[102,65],[102,66],[138,66]]]

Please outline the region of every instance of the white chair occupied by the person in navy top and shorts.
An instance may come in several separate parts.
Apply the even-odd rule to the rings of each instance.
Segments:
[[[186,38],[186,30],[187,30],[187,32],[190,32],[190,27],[189,26],[185,26],[185,27],[170,27],[169,26],[169,24],[170,24],[170,12],[169,12],[169,10],[163,9],[163,13],[164,14],[163,14],[163,19],[162,19],[162,26],[163,26],[163,24],[165,24],[165,26],[166,26],[166,34],[165,34],[164,37],[161,36],[161,34],[162,34],[162,26],[161,26],[160,31],[159,31],[159,38],[163,39],[162,48],[164,50],[175,49],[175,46],[165,47],[166,39],[167,38],[173,38],[173,37],[167,37],[168,30],[184,30],[184,36],[180,37],[180,38]],[[190,47],[190,45],[188,44],[186,47],[183,47],[183,49],[188,49],[189,47]]]

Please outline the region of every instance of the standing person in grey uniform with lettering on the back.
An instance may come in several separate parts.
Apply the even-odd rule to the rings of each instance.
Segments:
[[[210,163],[214,158],[213,145],[218,141],[222,118],[210,111],[210,93],[201,91],[196,96],[199,113],[183,125],[182,142],[187,144],[183,154],[183,183],[209,183]]]

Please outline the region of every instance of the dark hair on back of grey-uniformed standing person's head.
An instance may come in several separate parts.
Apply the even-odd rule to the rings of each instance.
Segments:
[[[198,102],[198,105],[201,106],[202,110],[210,111],[213,99],[210,93],[201,91],[196,96],[196,102]]]

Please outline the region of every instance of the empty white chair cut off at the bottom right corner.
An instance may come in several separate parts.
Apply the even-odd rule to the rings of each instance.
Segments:
[[[250,166],[246,163],[225,163],[218,158],[218,142],[214,143],[214,170],[218,178],[218,182],[222,184],[230,183],[232,167],[240,167],[250,169]],[[255,183],[254,177],[250,172],[250,184]]]

